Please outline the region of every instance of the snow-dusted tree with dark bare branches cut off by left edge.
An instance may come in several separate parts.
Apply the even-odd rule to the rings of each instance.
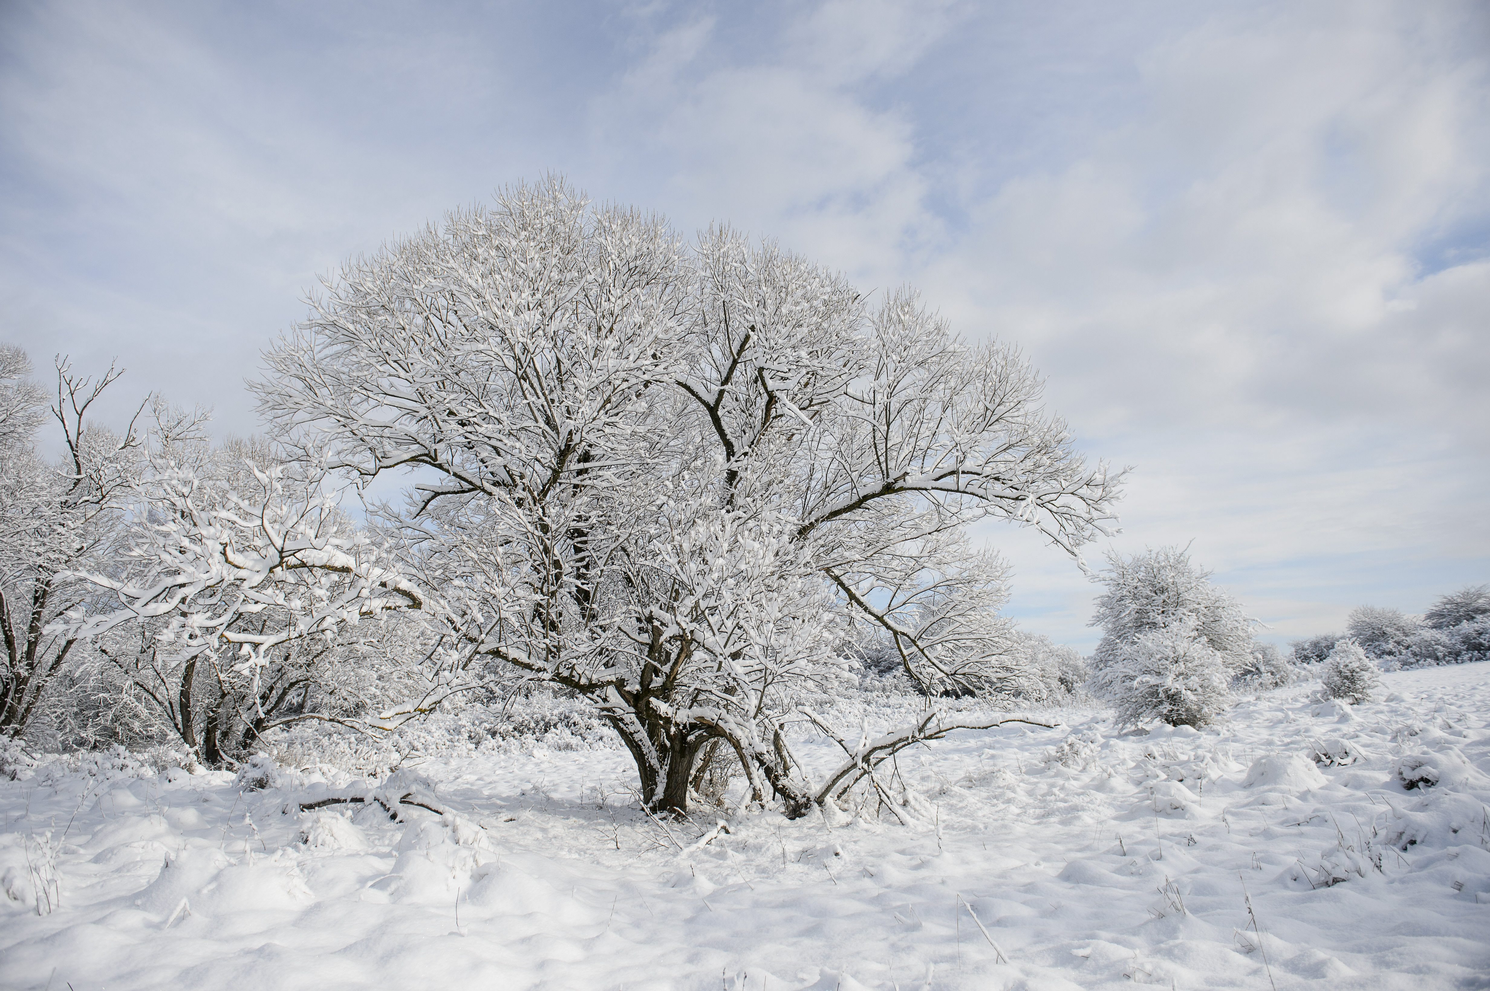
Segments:
[[[57,620],[97,595],[77,571],[109,567],[119,496],[137,464],[133,421],[121,437],[88,420],[122,372],[110,368],[92,381],[58,360],[49,411],[66,451],[58,464],[36,451],[48,411],[30,372],[22,351],[0,347],[0,735],[25,732],[72,662],[77,638]]]

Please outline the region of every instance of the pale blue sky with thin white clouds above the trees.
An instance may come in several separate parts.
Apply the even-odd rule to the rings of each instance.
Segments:
[[[0,3],[0,339],[110,417],[253,432],[317,275],[545,171],[1018,342],[1277,641],[1490,580],[1484,3]]]

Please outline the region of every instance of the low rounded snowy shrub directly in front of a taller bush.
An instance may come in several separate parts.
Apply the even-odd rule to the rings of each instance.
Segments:
[[[1205,726],[1231,704],[1229,681],[1226,658],[1192,619],[1180,619],[1125,644],[1092,676],[1092,689],[1118,710],[1119,726]]]

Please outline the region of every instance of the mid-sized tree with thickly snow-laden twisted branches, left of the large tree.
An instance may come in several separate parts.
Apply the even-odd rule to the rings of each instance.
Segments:
[[[101,681],[213,766],[288,723],[428,710],[453,673],[417,670],[440,647],[423,595],[316,475],[262,442],[213,449],[198,423],[156,408],[128,551],[86,576],[113,609],[58,623],[88,641]]]

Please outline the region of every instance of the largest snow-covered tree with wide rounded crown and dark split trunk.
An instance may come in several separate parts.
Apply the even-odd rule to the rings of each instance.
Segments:
[[[808,808],[782,728],[852,625],[933,696],[1007,684],[1001,565],[963,530],[1074,555],[1112,518],[1013,348],[557,180],[349,263],[267,363],[302,458],[417,469],[384,507],[410,573],[472,656],[593,702],[657,808],[711,740]]]

